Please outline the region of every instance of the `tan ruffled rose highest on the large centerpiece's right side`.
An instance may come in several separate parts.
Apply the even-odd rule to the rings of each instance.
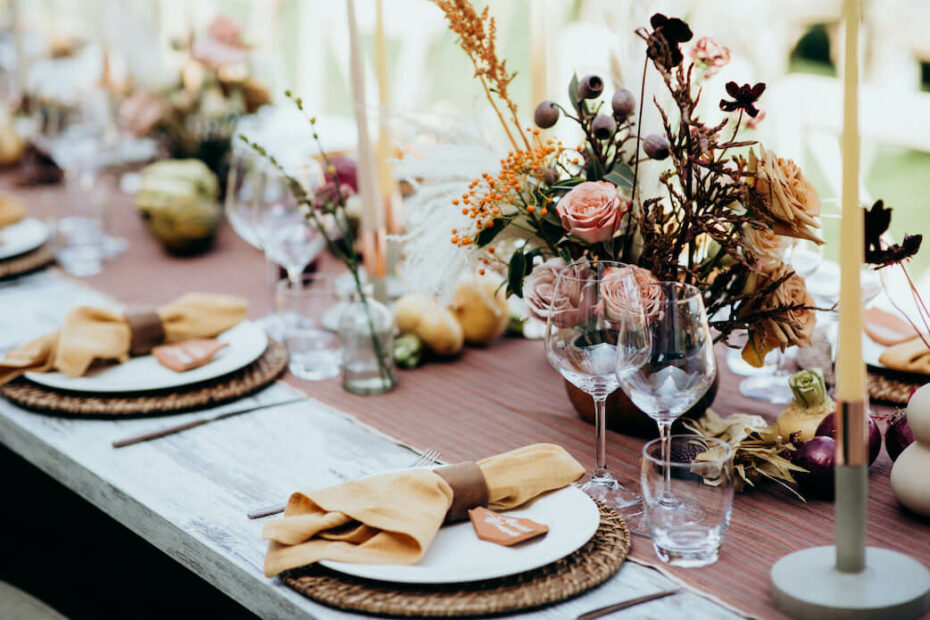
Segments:
[[[749,152],[749,171],[755,190],[768,198],[776,233],[823,243],[811,230],[820,228],[820,198],[796,163],[760,147],[758,157]]]

